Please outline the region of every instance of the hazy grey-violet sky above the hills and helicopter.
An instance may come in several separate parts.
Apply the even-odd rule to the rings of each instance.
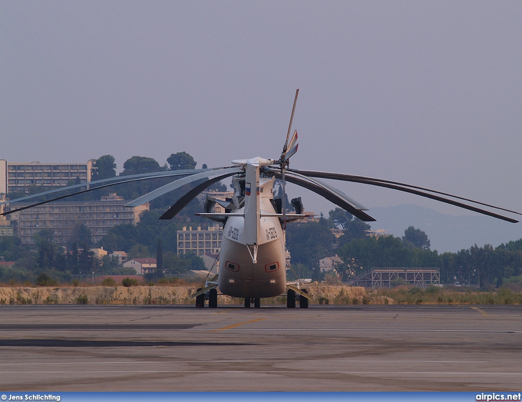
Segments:
[[[0,159],[279,158],[300,88],[292,168],[520,210],[521,21],[520,1],[2,1]],[[306,210],[334,207],[289,187]]]

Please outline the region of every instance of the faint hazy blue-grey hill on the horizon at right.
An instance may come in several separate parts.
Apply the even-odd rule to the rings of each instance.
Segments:
[[[522,223],[509,223],[479,214],[469,216],[444,215],[430,208],[406,204],[395,207],[370,208],[373,230],[389,229],[397,237],[412,225],[421,229],[431,241],[431,250],[439,253],[469,249],[474,244],[494,247],[522,238]]]

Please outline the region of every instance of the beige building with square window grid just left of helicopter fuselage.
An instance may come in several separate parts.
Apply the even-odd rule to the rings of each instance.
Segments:
[[[197,230],[185,226],[183,230],[177,231],[177,254],[219,254],[222,236],[222,228],[219,226],[208,226],[207,230],[202,230],[200,226]]]

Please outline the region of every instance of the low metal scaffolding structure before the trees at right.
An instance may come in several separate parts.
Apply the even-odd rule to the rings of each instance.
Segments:
[[[352,285],[365,288],[391,288],[392,281],[403,279],[410,285],[425,288],[428,285],[440,286],[440,268],[406,268],[406,267],[375,267],[356,276]]]

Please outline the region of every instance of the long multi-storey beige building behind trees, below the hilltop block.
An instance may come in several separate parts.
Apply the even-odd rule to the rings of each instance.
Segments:
[[[74,227],[80,223],[90,230],[92,240],[100,241],[108,230],[118,224],[139,222],[139,214],[149,210],[149,204],[138,207],[125,207],[128,201],[116,194],[101,197],[100,201],[53,202],[14,212],[7,215],[14,235],[23,244],[34,244],[33,236],[43,229],[54,230],[54,241],[66,244]],[[5,210],[16,209],[28,204],[7,205]]]

